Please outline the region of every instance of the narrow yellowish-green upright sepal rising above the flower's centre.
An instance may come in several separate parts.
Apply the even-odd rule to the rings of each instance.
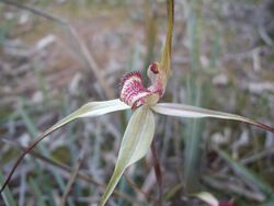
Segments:
[[[165,43],[163,46],[161,60],[160,60],[160,69],[162,69],[167,77],[171,76],[171,49],[172,49],[172,32],[173,32],[173,22],[174,22],[174,1],[167,0],[168,3],[168,32],[165,36]]]

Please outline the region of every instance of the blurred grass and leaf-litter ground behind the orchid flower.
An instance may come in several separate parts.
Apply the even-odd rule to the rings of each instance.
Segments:
[[[175,0],[164,101],[273,125],[273,19],[272,0]],[[117,98],[122,75],[160,59],[165,21],[163,0],[0,0],[0,183],[39,133],[89,101]],[[128,116],[81,119],[50,135],[21,163],[0,205],[96,205]],[[159,116],[155,139],[164,205],[202,205],[189,196],[201,191],[235,205],[274,205],[273,134]],[[110,205],[152,205],[156,185],[149,154],[126,171]]]

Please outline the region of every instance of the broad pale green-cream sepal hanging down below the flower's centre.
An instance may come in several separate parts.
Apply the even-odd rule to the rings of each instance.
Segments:
[[[155,134],[155,116],[147,106],[135,111],[125,130],[113,175],[102,196],[105,205],[127,167],[141,159],[149,150]]]

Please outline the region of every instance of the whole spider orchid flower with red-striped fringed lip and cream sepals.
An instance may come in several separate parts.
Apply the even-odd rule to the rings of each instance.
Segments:
[[[163,96],[168,79],[171,76],[170,59],[171,59],[171,43],[172,43],[172,30],[173,30],[173,0],[168,0],[168,33],[165,37],[165,44],[161,55],[160,62],[153,62],[148,67],[147,76],[151,81],[151,85],[145,88],[142,84],[142,78],[140,72],[133,71],[125,75],[121,80],[121,94],[119,99],[90,102],[75,111],[67,117],[62,118],[46,131],[44,131],[35,141],[33,141],[26,150],[19,157],[11,172],[9,173],[4,184],[0,192],[4,190],[9,183],[16,167],[41,140],[48,136],[54,130],[62,127],[64,125],[81,117],[94,117],[104,115],[112,112],[133,110],[134,113],[128,122],[126,130],[124,133],[121,148],[118,151],[117,162],[113,172],[113,175],[106,186],[106,190],[102,196],[100,205],[103,206],[112,195],[118,181],[121,180],[124,171],[146,156],[149,151],[151,141],[153,139],[156,129],[155,114],[162,114],[178,117],[215,117],[241,121],[265,130],[274,133],[274,128],[262,123],[246,118],[243,116],[217,112],[201,107],[195,107],[184,104],[175,103],[158,103]]]

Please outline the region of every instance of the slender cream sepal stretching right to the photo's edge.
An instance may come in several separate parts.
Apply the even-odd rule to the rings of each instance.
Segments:
[[[267,126],[263,123],[259,123],[259,122],[252,121],[250,118],[247,118],[240,115],[225,113],[225,112],[212,111],[212,110],[201,108],[196,106],[175,104],[175,103],[159,103],[159,104],[156,104],[155,106],[151,106],[151,108],[156,113],[170,115],[170,116],[191,117],[191,118],[214,117],[214,118],[241,121],[241,122],[249,123],[258,127],[261,127],[265,130],[270,130],[274,133],[273,127]]]

